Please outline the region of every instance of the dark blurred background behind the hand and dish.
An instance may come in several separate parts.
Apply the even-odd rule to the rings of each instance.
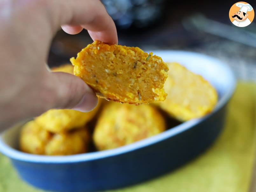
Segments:
[[[114,19],[120,45],[144,51],[174,49],[201,52],[230,65],[239,79],[256,80],[256,20],[236,27],[229,19],[236,1],[102,0]],[[251,1],[253,8],[256,2]],[[50,67],[69,62],[92,43],[86,30],[59,31],[53,39]]]

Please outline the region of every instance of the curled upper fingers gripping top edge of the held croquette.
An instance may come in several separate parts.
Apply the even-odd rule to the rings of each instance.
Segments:
[[[56,0],[49,4],[53,30],[64,25],[64,31],[74,34],[81,31],[81,26],[88,30],[93,40],[118,43],[114,21],[99,0]]]

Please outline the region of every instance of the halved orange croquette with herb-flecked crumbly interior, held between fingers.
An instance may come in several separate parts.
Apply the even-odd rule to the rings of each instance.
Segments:
[[[107,100],[147,104],[166,98],[163,84],[168,66],[152,52],[94,41],[70,61],[74,75]]]

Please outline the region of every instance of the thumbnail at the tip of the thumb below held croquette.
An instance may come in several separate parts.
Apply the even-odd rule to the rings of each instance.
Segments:
[[[72,109],[81,112],[89,112],[92,111],[97,106],[97,104],[98,98],[95,93],[86,93],[80,102]]]

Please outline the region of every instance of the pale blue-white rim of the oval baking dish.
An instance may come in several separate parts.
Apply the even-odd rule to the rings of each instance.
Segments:
[[[156,52],[170,52],[170,50],[157,50]],[[177,53],[185,53],[185,54],[193,54],[197,55],[198,57],[211,60],[216,65],[221,65],[225,68],[225,70],[228,72],[229,80],[230,80],[230,87],[225,92],[225,94],[222,96],[222,98],[218,101],[215,109],[208,115],[199,118],[199,119],[193,119],[186,121],[174,128],[171,128],[169,130],[166,130],[160,134],[157,134],[155,136],[149,137],[147,139],[137,141],[135,143],[118,147],[115,149],[105,150],[105,151],[96,151],[96,152],[90,152],[90,153],[84,153],[84,154],[75,154],[75,155],[66,155],[66,156],[45,156],[45,155],[35,155],[35,154],[28,154],[21,151],[18,151],[7,144],[3,142],[2,139],[0,139],[0,152],[4,155],[10,157],[11,159],[19,160],[19,161],[26,161],[26,162],[34,162],[34,163],[74,163],[74,162],[85,162],[85,161],[93,161],[97,159],[102,159],[106,157],[116,156],[123,153],[131,152],[136,149],[140,149],[142,147],[146,147],[149,145],[152,145],[154,143],[160,142],[164,139],[167,139],[169,137],[172,137],[176,134],[179,134],[193,126],[195,126],[197,123],[200,123],[201,121],[207,119],[209,116],[211,116],[212,113],[218,111],[222,106],[224,106],[228,100],[231,98],[232,94],[234,93],[235,87],[236,87],[236,79],[234,77],[234,74],[232,73],[232,70],[230,67],[220,60],[216,58],[212,58],[211,56],[204,55],[202,53],[192,52],[192,51],[173,51],[171,52],[177,52]],[[2,133],[3,134],[3,133]],[[2,134],[0,136],[2,136]]]

